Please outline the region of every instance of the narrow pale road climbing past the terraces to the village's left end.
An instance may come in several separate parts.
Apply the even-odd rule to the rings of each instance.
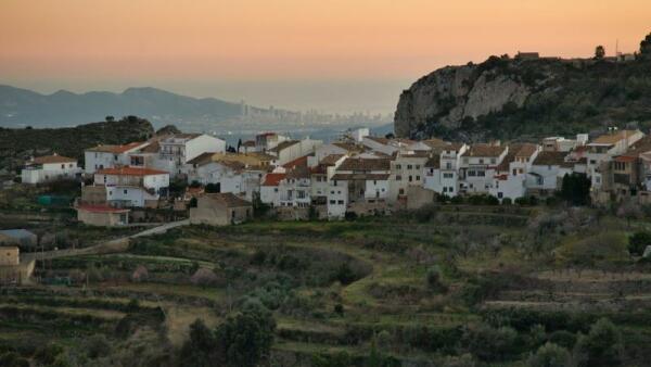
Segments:
[[[69,257],[69,256],[81,256],[81,255],[97,255],[107,254],[116,252],[125,252],[129,249],[129,240],[133,238],[165,233],[169,229],[187,226],[190,224],[190,219],[170,222],[162,226],[149,228],[141,232],[117,238],[111,241],[102,242],[89,248],[84,249],[68,249],[68,250],[52,250],[46,252],[33,252],[21,255],[21,262],[30,262],[34,260],[51,260],[58,257]]]

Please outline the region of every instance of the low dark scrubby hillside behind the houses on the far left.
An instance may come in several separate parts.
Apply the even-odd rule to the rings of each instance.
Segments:
[[[144,140],[153,134],[152,124],[136,116],[115,122],[64,128],[9,129],[0,127],[0,168],[15,169],[31,155],[54,152],[81,159],[84,149],[88,147]]]

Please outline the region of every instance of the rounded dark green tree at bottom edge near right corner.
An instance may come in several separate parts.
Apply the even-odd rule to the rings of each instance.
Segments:
[[[587,336],[579,337],[577,350],[585,355],[586,366],[617,366],[622,333],[611,320],[601,318],[590,327]]]

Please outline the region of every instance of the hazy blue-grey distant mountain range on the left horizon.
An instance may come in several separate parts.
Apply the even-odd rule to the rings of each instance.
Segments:
[[[155,88],[128,88],[122,93],[60,90],[41,94],[0,85],[0,127],[62,127],[111,115],[137,115],[154,125],[183,122],[221,122],[241,114],[239,103],[215,98],[191,98]]]

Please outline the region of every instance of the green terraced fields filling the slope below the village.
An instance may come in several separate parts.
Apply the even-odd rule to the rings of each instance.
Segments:
[[[623,262],[620,243],[589,266],[576,249],[586,233],[625,238],[647,224],[597,224],[585,211],[563,219],[572,227],[534,235],[549,211],[443,206],[345,223],[183,227],[132,239],[122,253],[48,260],[38,276],[63,284],[2,290],[0,352],[175,365],[195,319],[215,327],[256,302],[277,322],[273,366],[451,366],[467,354],[521,366],[553,336],[576,339],[602,317],[626,330],[622,360],[644,360],[651,270],[627,254]],[[482,339],[503,328],[515,330],[508,347]],[[93,343],[110,347],[88,353]]]

